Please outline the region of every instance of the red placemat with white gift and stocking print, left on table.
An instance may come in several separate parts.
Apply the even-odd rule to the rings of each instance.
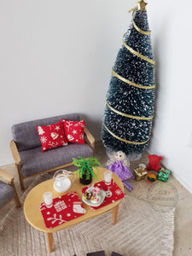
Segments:
[[[53,205],[47,208],[44,202],[39,206],[46,228],[52,229],[86,212],[79,195],[72,191],[53,199]]]

